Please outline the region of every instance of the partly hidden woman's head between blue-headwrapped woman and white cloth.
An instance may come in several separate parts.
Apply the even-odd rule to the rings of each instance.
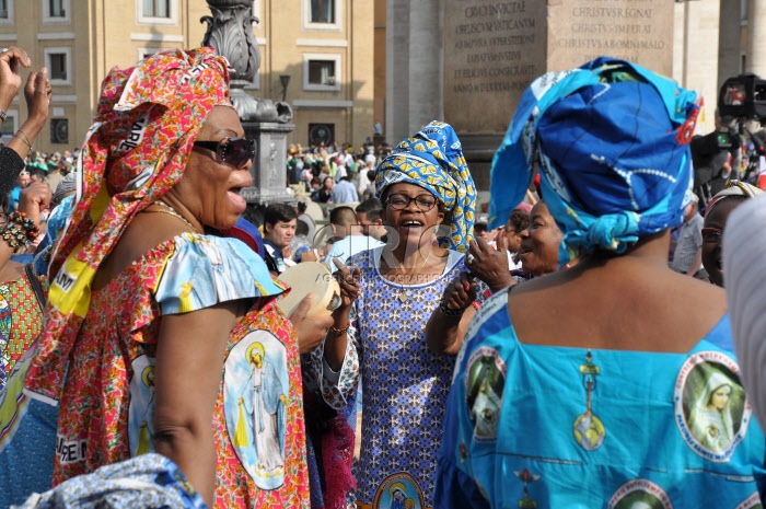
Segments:
[[[746,182],[729,181],[726,188],[718,192],[705,208],[703,265],[710,282],[718,287],[723,286],[723,255],[721,254],[723,228],[736,207],[759,194],[761,189]]]

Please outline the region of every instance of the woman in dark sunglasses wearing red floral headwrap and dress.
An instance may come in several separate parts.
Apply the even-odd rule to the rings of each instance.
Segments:
[[[55,484],[158,452],[210,507],[307,506],[283,288],[216,233],[245,210],[255,150],[211,48],[158,53],[104,80],[26,379],[60,402]]]

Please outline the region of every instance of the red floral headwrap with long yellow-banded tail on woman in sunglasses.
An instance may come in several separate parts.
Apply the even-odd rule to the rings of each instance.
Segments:
[[[38,395],[58,398],[50,381],[63,379],[96,269],[136,213],[181,180],[219,105],[231,107],[229,65],[213,48],[161,51],[104,79],[78,163],[78,204],[50,263],[48,322],[27,375]]]

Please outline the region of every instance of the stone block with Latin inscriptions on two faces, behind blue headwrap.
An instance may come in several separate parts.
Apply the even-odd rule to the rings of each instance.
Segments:
[[[502,134],[532,80],[599,56],[671,76],[673,16],[670,0],[448,0],[444,117]]]

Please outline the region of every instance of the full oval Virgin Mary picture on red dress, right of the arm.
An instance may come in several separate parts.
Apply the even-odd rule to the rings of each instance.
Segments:
[[[285,347],[267,331],[248,334],[229,354],[223,380],[227,428],[240,461],[258,487],[278,488],[285,483]]]

